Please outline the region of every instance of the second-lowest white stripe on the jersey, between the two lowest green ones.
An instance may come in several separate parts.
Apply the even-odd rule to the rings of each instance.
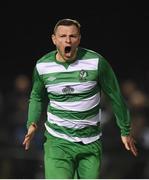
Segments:
[[[58,126],[63,126],[67,128],[74,128],[74,129],[81,129],[87,126],[95,126],[98,122],[100,122],[100,116],[97,114],[96,116],[90,119],[83,119],[83,120],[74,120],[74,119],[62,119],[58,116],[55,116],[51,113],[47,113],[49,123],[56,124]]]

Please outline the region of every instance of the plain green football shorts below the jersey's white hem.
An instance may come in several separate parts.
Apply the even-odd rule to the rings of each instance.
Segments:
[[[45,178],[74,179],[77,175],[79,179],[98,179],[101,156],[100,140],[83,144],[48,135],[44,143]]]

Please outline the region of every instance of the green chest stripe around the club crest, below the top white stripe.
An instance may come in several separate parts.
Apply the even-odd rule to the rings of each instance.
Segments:
[[[85,70],[85,67],[82,68]],[[98,72],[97,70],[87,70],[87,76],[85,78],[86,81],[97,81]],[[49,80],[50,77],[54,77],[55,80]],[[80,79],[80,71],[73,72],[58,72],[58,73],[49,73],[43,74],[42,78],[46,85],[48,84],[57,84],[61,82],[84,82],[84,80]]]

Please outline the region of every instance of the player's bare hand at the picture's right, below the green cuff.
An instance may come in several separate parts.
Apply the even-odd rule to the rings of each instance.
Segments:
[[[134,156],[138,155],[137,148],[135,146],[135,140],[132,136],[121,136],[122,142],[128,151],[131,151]]]

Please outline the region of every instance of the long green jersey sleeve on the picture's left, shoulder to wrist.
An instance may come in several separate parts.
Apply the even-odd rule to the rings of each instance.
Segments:
[[[29,98],[27,128],[32,123],[38,123],[46,100],[46,89],[35,67],[33,72],[33,86]]]

